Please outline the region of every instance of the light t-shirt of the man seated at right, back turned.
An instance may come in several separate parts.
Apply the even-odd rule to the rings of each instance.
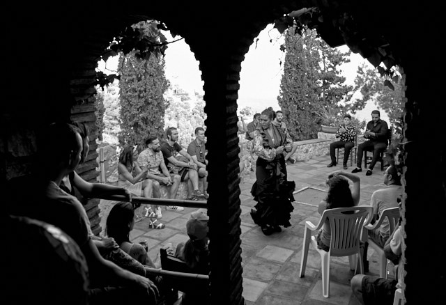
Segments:
[[[397,198],[403,194],[403,187],[401,185],[388,185],[383,189],[377,189],[371,194],[370,205],[374,208],[374,214],[381,216],[383,210],[388,208],[397,208]],[[383,219],[379,228],[380,235],[383,237],[390,236],[390,226],[387,217]]]

